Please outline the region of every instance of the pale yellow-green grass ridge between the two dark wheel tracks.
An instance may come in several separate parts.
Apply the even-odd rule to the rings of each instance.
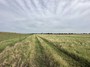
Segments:
[[[54,63],[53,67],[70,67],[68,63],[62,58],[55,49],[53,49],[50,44],[45,42],[42,38],[38,37],[41,42],[45,52],[49,54],[49,57],[52,59],[51,61]],[[52,67],[52,66],[50,66]]]

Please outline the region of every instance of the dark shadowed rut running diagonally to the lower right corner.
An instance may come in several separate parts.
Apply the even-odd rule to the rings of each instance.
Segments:
[[[42,38],[42,37],[41,37]],[[52,48],[56,49],[56,51],[58,53],[60,53],[60,55],[62,55],[62,57],[65,58],[65,60],[67,60],[67,62],[69,62],[70,65],[72,65],[73,67],[89,67],[90,66],[90,62],[88,62],[86,59],[79,57],[73,53],[69,53],[68,51],[66,51],[63,48],[60,48],[58,46],[56,46],[55,44],[53,44],[51,41],[42,38],[45,42],[47,42]],[[66,57],[65,57],[66,56]],[[71,62],[71,63],[70,63]]]

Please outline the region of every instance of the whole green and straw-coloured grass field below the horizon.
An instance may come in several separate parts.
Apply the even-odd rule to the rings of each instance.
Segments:
[[[90,35],[0,33],[0,67],[90,67]]]

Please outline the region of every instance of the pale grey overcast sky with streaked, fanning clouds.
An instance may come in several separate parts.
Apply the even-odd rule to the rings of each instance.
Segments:
[[[90,0],[0,0],[0,31],[89,33]]]

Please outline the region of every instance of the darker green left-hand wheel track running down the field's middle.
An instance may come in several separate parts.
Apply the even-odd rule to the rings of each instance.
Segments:
[[[46,49],[46,46],[43,46],[44,44],[42,44],[37,37],[35,43],[37,44],[36,60],[39,63],[39,67],[60,67],[60,65],[56,61],[54,61],[51,53]]]

